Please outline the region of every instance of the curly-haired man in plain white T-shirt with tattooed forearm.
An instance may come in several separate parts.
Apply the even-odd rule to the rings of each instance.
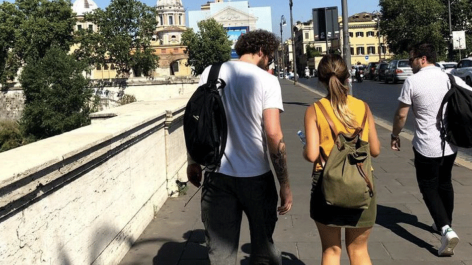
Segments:
[[[202,188],[202,221],[212,265],[234,265],[242,213],[249,221],[251,265],[281,265],[272,234],[279,214],[292,207],[287,154],[280,126],[282,93],[277,77],[267,72],[279,41],[265,30],[250,31],[236,43],[238,61],[221,66],[219,78],[228,120],[228,139],[221,166],[207,172]],[[210,67],[202,73],[206,83]],[[268,150],[267,150],[268,146]],[[280,184],[281,205],[268,153]],[[188,161],[189,181],[199,187],[200,165]]]

